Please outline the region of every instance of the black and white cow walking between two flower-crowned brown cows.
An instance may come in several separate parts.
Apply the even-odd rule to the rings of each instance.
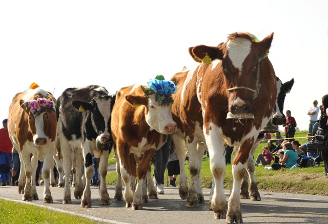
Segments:
[[[105,87],[98,85],[67,88],[57,100],[58,133],[65,172],[63,204],[72,203],[69,187],[72,149],[75,150],[76,161],[74,196],[76,199],[82,197],[81,207],[91,207],[90,182],[94,175],[93,155],[100,158],[98,169],[100,205],[110,204],[106,188],[106,174],[108,156],[112,148],[110,122],[114,101],[115,97],[110,96]],[[98,145],[104,147],[97,147]],[[85,187],[81,180],[83,164],[85,164]]]

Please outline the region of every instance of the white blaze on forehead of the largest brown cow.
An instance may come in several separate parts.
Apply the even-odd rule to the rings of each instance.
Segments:
[[[235,38],[227,43],[228,56],[235,68],[239,69],[239,75],[242,71],[242,63],[251,52],[251,46],[251,41],[245,38]]]

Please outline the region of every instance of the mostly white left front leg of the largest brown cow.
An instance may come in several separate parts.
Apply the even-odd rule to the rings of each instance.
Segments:
[[[221,133],[216,133],[216,129],[212,129],[210,135],[206,135],[206,142],[210,155],[210,168],[213,176],[213,196],[210,201],[210,206],[214,212],[215,219],[226,218],[227,200],[223,190],[224,173],[226,172],[226,160],[223,155],[224,147],[223,140],[217,136]]]

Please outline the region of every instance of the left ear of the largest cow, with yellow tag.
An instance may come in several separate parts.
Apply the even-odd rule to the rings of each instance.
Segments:
[[[206,64],[211,63],[214,59],[222,59],[223,52],[218,47],[208,47],[205,45],[199,45],[193,48],[189,48],[189,54],[196,61],[201,61]]]

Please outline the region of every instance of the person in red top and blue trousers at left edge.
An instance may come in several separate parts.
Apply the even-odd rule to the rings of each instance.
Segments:
[[[3,127],[0,129],[0,179],[1,186],[6,186],[8,182],[8,173],[11,169],[11,150],[12,143],[9,138],[8,119],[3,120]]]

